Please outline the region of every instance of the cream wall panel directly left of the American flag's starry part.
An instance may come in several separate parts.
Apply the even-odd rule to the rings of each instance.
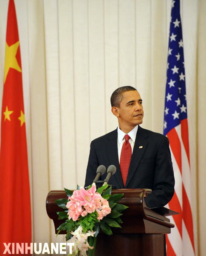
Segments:
[[[152,84],[152,131],[163,131],[164,99],[168,38],[166,33],[166,1],[151,1],[151,84]],[[158,104],[157,104],[158,102]]]

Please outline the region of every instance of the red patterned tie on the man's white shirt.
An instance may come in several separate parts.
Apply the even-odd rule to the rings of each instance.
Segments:
[[[128,174],[128,170],[130,167],[130,160],[131,160],[131,156],[132,156],[132,148],[131,145],[129,143],[129,139],[130,136],[128,134],[126,134],[124,136],[124,144],[121,148],[121,156],[120,156],[120,170],[121,170],[121,177],[124,183],[124,186],[126,184],[126,180],[127,180],[127,174]]]

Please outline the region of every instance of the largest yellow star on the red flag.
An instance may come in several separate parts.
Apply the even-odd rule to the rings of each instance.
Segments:
[[[12,44],[11,46],[8,46],[8,44],[6,43],[4,83],[6,81],[6,77],[10,67],[14,68],[19,72],[22,71],[16,58],[18,48],[19,48],[19,41],[17,41],[15,44]]]

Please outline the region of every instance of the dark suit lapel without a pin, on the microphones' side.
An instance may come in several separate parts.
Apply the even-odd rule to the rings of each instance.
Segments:
[[[123,180],[121,177],[120,167],[119,167],[119,157],[117,149],[117,129],[110,134],[108,134],[108,141],[106,144],[107,156],[109,159],[110,165],[113,164],[116,166],[116,173],[114,178],[121,188],[124,188]]]

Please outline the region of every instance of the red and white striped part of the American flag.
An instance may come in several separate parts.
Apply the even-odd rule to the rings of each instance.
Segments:
[[[171,234],[166,235],[167,256],[195,256],[187,119],[183,119],[166,136],[175,175],[175,194],[167,207],[180,213],[170,217],[175,227]]]

